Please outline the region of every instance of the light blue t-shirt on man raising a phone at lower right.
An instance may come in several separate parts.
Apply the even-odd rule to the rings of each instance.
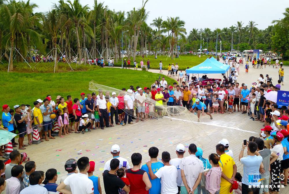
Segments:
[[[261,178],[259,168],[262,162],[262,156],[258,155],[248,155],[247,157],[241,158],[240,162],[243,164],[243,177],[242,184],[245,185],[260,185],[261,182],[258,181]],[[254,176],[255,175],[255,176]]]

